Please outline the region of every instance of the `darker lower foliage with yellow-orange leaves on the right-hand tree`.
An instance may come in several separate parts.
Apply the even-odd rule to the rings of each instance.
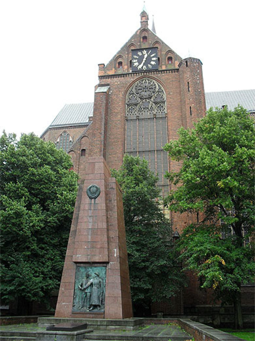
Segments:
[[[223,239],[219,226],[190,225],[178,242],[185,269],[194,270],[202,288],[213,288],[223,303],[233,302],[240,283],[252,280],[253,249],[239,246],[235,236]]]

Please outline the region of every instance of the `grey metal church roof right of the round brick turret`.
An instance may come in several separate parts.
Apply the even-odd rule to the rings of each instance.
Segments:
[[[210,107],[221,108],[227,105],[228,109],[233,110],[238,104],[242,105],[247,111],[255,112],[255,90],[222,91],[205,93],[206,110]]]

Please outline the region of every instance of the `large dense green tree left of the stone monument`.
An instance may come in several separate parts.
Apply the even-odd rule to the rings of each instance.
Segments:
[[[60,284],[77,193],[70,157],[34,134],[0,137],[1,299],[49,303]]]

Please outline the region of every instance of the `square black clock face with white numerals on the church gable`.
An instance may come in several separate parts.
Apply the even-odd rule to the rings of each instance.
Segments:
[[[158,69],[158,48],[137,48],[132,50],[132,72]]]

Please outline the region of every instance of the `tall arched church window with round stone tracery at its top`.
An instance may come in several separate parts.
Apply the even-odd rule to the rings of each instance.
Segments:
[[[154,79],[142,78],[126,95],[125,152],[145,158],[158,175],[163,196],[169,192],[168,155],[162,149],[167,143],[166,94]]]

